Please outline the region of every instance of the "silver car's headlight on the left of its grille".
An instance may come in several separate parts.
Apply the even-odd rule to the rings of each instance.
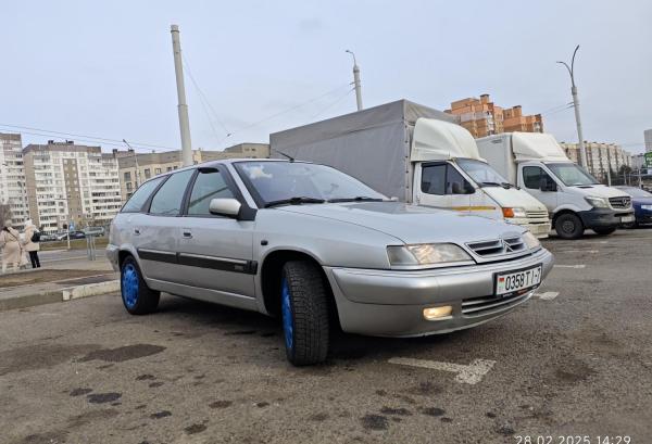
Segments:
[[[452,243],[417,243],[389,245],[387,256],[392,266],[432,265],[472,261],[460,246]]]

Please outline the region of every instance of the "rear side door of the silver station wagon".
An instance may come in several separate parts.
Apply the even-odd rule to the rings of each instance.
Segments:
[[[140,218],[137,252],[145,276],[163,282],[180,279],[177,249],[180,236],[180,216],[184,196],[195,169],[184,169],[170,175],[146,204]]]

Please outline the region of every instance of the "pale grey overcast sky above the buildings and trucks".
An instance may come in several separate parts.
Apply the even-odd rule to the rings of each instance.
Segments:
[[[547,131],[576,141],[573,110],[561,106],[572,100],[569,77],[554,62],[580,45],[585,138],[640,152],[652,128],[645,0],[99,3],[2,2],[0,131],[179,147],[172,23],[199,86],[187,69],[193,148],[267,142],[269,132],[354,111],[346,49],[358,56],[366,107],[405,98],[444,110],[486,92],[543,113]],[[25,143],[57,138],[16,131]]]

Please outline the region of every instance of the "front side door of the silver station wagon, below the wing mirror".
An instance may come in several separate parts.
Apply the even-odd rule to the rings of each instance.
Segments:
[[[254,297],[254,221],[216,216],[209,211],[211,200],[238,195],[226,167],[198,168],[179,221],[181,283],[223,295]]]

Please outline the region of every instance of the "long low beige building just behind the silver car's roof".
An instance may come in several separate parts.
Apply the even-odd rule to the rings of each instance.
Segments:
[[[180,151],[136,154],[134,151],[114,150],[120,168],[120,186],[123,201],[129,199],[140,183],[150,177],[172,172],[183,165]],[[269,157],[267,143],[240,143],[224,151],[193,150],[192,161],[196,164],[221,158],[235,157]]]

